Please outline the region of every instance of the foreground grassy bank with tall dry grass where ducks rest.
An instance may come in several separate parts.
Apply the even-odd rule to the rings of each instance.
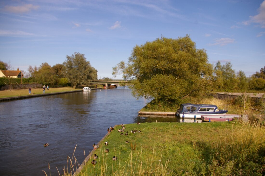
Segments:
[[[77,175],[265,174],[264,126],[240,122],[125,126],[129,135],[121,135],[117,131],[121,126],[117,126],[92,151],[92,156],[98,155],[97,163],[92,165],[91,157]],[[134,129],[141,132],[131,133]],[[105,146],[105,141],[109,145]],[[104,152],[106,148],[108,153]],[[112,160],[113,156],[117,160]],[[65,174],[73,174],[78,165],[74,158],[70,162],[69,157],[71,169],[65,170]]]

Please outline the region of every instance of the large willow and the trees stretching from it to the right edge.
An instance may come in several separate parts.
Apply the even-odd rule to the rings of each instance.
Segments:
[[[265,66],[250,77],[232,64],[212,65],[205,49],[197,49],[189,35],[157,38],[136,45],[128,61],[113,67],[112,74],[129,81],[133,95],[154,101],[180,102],[205,92],[265,90]]]

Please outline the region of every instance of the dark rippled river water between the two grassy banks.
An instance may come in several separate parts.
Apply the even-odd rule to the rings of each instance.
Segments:
[[[81,164],[110,126],[177,121],[138,116],[146,103],[126,87],[0,102],[0,175],[62,175],[75,146]]]

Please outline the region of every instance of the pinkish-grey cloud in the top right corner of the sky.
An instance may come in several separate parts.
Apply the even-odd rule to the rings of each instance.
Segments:
[[[259,23],[261,28],[265,28],[265,1],[263,1],[260,4],[260,7],[258,8],[258,15],[255,16],[249,16],[250,20],[243,21],[242,23],[244,25],[250,25],[251,23]]]

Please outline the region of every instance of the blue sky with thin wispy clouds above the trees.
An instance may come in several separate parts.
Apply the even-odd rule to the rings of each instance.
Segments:
[[[134,46],[186,34],[211,64],[230,61],[247,76],[265,66],[262,0],[2,0],[0,14],[0,60],[15,70],[80,52],[99,79],[114,79]]]

